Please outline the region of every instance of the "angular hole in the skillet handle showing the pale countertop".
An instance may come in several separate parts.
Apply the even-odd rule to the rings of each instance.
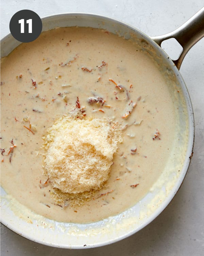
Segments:
[[[183,47],[175,38],[164,40],[161,47],[172,60],[177,60],[183,52]]]

